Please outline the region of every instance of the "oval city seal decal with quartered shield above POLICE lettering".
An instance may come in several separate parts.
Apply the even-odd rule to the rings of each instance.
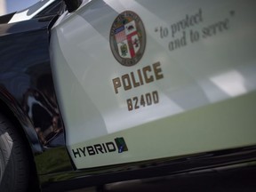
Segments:
[[[133,66],[143,56],[146,32],[140,17],[131,11],[122,12],[110,31],[110,47],[116,60],[124,66]]]

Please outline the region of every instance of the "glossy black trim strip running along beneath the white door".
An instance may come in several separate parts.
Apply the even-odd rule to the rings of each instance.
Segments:
[[[165,158],[137,164],[118,164],[76,172],[42,175],[45,192],[100,186],[111,182],[213,169],[232,164],[256,162],[256,146],[226,149],[180,158]],[[53,182],[51,182],[51,181]]]

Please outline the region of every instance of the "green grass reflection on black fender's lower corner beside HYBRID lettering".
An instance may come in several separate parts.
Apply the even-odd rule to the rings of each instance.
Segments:
[[[37,155],[36,169],[39,175],[73,170],[66,148],[48,148]]]

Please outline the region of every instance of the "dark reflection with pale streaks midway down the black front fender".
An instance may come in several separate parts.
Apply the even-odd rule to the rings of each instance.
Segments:
[[[38,138],[44,146],[51,144],[63,132],[51,75],[40,76],[36,89],[28,89],[23,96],[23,108],[33,120]]]

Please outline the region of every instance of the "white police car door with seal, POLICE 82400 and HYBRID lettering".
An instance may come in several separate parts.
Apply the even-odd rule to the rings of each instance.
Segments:
[[[62,15],[52,69],[76,167],[256,144],[255,5],[92,0]]]

